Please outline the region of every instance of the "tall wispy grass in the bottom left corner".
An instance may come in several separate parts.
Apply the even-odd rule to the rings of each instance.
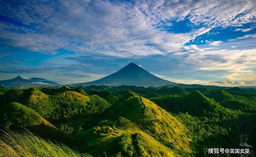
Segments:
[[[41,139],[32,133],[25,131],[15,133],[10,130],[2,131],[0,135],[0,156],[81,156],[80,154],[63,144],[54,144],[51,141]]]

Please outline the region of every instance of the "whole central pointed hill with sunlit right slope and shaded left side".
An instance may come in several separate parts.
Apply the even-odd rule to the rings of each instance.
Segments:
[[[129,94],[125,96],[127,99],[121,98],[124,99],[122,102],[106,111],[103,118],[116,120],[122,116],[166,146],[191,152],[190,139],[186,135],[188,130],[182,123],[154,102],[136,94],[129,97]]]

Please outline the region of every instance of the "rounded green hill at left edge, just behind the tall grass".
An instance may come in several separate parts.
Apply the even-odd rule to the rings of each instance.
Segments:
[[[0,110],[0,124],[12,129],[27,128],[37,135],[65,142],[69,137],[42,118],[38,113],[17,102],[11,102]]]

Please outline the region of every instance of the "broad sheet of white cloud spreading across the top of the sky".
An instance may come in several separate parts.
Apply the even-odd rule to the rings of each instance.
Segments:
[[[63,48],[119,57],[163,55],[182,49],[186,42],[212,28],[242,25],[255,15],[253,1],[2,3],[3,16],[29,25],[2,23],[0,37],[6,39],[4,44],[48,54]],[[203,24],[203,28],[179,34],[157,28],[185,17],[194,24]]]

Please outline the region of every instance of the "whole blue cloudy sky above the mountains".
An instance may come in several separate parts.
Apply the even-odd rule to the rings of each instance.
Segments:
[[[0,80],[100,79],[134,62],[172,82],[256,86],[255,0],[0,1]]]

